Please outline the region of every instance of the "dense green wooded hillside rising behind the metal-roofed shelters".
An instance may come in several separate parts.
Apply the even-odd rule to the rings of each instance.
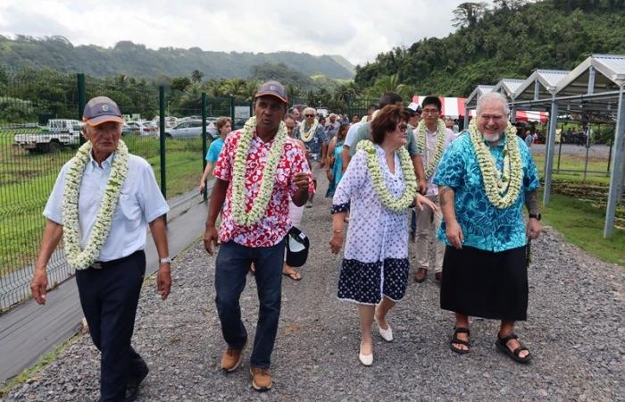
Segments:
[[[589,54],[625,54],[625,0],[496,0],[463,3],[459,29],[356,67],[358,88],[396,75],[420,94],[468,96],[478,84],[525,79],[537,68],[571,70]]]

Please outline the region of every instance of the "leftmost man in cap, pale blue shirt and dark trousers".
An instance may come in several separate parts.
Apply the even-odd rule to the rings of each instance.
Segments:
[[[115,102],[106,96],[91,99],[83,121],[88,142],[63,165],[48,198],[30,288],[35,301],[45,304],[46,265],[63,238],[91,339],[102,352],[99,400],[131,401],[148,373],[130,346],[146,273],[146,224],[160,257],[156,282],[164,300],[171,289],[163,216],[169,206],[150,164],[130,155],[120,141],[123,119]]]

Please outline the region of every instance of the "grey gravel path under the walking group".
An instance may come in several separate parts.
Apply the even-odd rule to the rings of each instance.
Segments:
[[[326,183],[320,184],[325,194]],[[548,228],[532,245],[529,321],[516,329],[534,354],[531,364],[516,364],[496,351],[494,321],[472,320],[470,354],[449,350],[453,316],[438,307],[430,273],[428,281],[410,283],[389,314],[395,341],[386,343],[374,329],[375,360],[362,366],[356,308],[336,298],[340,257],[327,246],[328,211],[321,192],[304,211],[312,254],[302,281],[283,281],[273,389],[251,389],[249,347],[236,373],[221,373],[214,258],[198,243],[174,262],[167,301],[156,297],[154,281],[143,290],[133,344],[151,372],[139,400],[623,399],[625,271],[586,255]],[[257,298],[254,278],[248,280],[241,303],[253,337]],[[90,339],[82,337],[4,400],[95,400],[98,359]]]

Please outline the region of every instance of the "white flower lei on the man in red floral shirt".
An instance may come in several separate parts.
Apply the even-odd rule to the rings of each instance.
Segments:
[[[279,158],[282,155],[284,143],[287,140],[287,126],[284,121],[280,121],[278,133],[273,139],[273,144],[267,157],[267,162],[262,170],[261,188],[258,190],[254,205],[249,212],[246,212],[246,164],[247,152],[254,138],[256,129],[256,117],[251,117],[246,121],[246,125],[241,130],[241,137],[238,139],[237,150],[235,151],[235,162],[232,172],[232,217],[237,224],[251,226],[261,220],[262,215],[267,210],[267,205],[271,198],[271,191],[276,181],[276,169]]]

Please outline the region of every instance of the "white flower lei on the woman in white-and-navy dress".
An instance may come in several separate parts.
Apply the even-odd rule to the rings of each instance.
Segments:
[[[362,140],[358,143],[357,149],[362,149],[367,155],[367,167],[369,168],[369,174],[371,174],[371,184],[376,194],[378,194],[382,205],[396,213],[410,207],[414,197],[417,195],[417,178],[414,175],[412,160],[405,147],[397,150],[405,182],[404,194],[399,198],[393,197],[388,191],[387,185],[382,178],[382,170],[379,167],[378,155],[373,143],[368,139]]]

